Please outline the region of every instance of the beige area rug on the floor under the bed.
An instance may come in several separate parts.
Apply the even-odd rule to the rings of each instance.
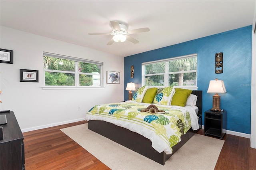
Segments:
[[[61,130],[112,170],[213,170],[224,144],[195,134],[163,166],[89,130],[87,123]]]

